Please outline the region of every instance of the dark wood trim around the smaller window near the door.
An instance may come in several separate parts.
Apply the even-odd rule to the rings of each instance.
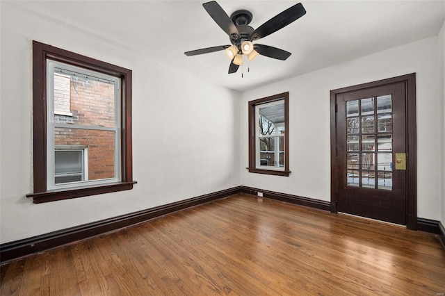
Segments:
[[[280,101],[284,99],[284,171],[282,170],[265,170],[257,168],[256,161],[256,136],[255,127],[257,118],[255,117],[255,107],[260,104],[266,104],[273,101]],[[257,174],[271,174],[275,176],[289,176],[291,171],[289,170],[289,92],[283,92],[281,94],[275,94],[270,97],[264,97],[249,101],[249,172]]]

